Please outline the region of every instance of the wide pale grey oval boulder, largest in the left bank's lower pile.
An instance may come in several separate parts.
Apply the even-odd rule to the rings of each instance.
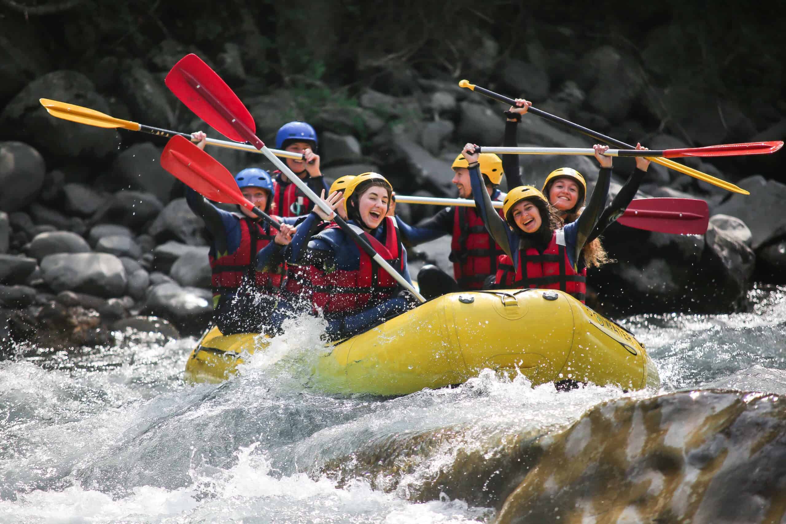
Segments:
[[[53,291],[77,291],[101,297],[123,296],[127,276],[123,263],[108,253],[61,253],[41,262]]]

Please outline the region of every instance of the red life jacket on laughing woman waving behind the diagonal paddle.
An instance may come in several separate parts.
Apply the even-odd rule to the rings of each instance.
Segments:
[[[362,233],[377,253],[394,269],[404,271],[404,247],[399,240],[399,230],[395,220],[385,217],[385,244],[380,244],[369,233]],[[331,224],[327,229],[338,227]],[[358,229],[359,231],[359,229]],[[357,245],[357,244],[356,244]],[[358,246],[360,259],[358,269],[336,269],[325,272],[314,266],[307,266],[304,279],[304,293],[310,295],[314,309],[324,313],[352,314],[358,313],[380,302],[390,299],[399,284],[387,271],[382,269],[362,247]]]

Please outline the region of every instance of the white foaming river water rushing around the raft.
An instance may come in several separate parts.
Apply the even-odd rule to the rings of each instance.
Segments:
[[[786,288],[751,301],[750,313],[622,319],[662,381],[630,394],[483,372],[402,398],[332,397],[301,378],[313,323],[221,385],[183,382],[195,339],[20,348],[0,362],[0,522],[494,522],[489,479],[506,472],[462,478],[468,456],[501,464],[512,438],[558,434],[619,398],[786,394]]]

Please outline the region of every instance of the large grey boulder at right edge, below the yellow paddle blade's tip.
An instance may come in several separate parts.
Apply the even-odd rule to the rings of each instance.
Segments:
[[[737,185],[750,191],[751,195],[735,194],[718,206],[714,212],[729,214],[745,222],[753,235],[751,241],[753,249],[758,249],[758,247],[784,236],[786,234],[786,215],[773,213],[772,210],[780,209],[786,201],[784,200],[786,199],[786,185],[774,180],[765,180],[758,175],[740,180]]]

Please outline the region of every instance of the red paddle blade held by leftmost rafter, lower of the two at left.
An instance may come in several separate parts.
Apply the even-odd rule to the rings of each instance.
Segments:
[[[185,137],[170,138],[161,153],[161,167],[208,200],[239,203],[248,209],[254,207],[226,167]]]

